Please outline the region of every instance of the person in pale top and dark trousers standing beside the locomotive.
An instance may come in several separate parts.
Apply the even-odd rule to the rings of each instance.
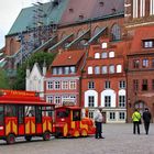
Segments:
[[[96,124],[96,139],[105,139],[101,133],[102,133],[102,113],[101,113],[101,109],[97,109],[96,110],[96,114],[95,114],[95,124]]]

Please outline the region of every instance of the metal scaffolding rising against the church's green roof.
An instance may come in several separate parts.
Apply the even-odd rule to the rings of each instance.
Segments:
[[[51,1],[52,2],[52,1]],[[28,59],[33,51],[42,46],[47,42],[57,30],[57,24],[51,22],[45,23],[47,14],[44,11],[44,4],[40,1],[33,4],[33,26],[28,26],[26,32],[21,32],[18,35],[18,41],[20,42],[20,50],[14,54],[14,65],[18,67],[25,59]],[[53,4],[53,2],[52,2]]]

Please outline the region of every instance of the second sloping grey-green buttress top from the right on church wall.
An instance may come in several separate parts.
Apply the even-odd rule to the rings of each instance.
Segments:
[[[86,32],[84,32],[80,36],[78,36],[77,38],[75,38],[72,43],[69,43],[66,48],[69,48],[72,45],[80,42],[84,38],[87,38],[87,34],[90,34],[90,29],[88,29]]]

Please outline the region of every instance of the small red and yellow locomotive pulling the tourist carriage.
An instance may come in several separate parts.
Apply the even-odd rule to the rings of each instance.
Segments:
[[[81,118],[81,108],[63,106],[55,108],[55,136],[88,136],[95,134],[94,121],[89,118]]]

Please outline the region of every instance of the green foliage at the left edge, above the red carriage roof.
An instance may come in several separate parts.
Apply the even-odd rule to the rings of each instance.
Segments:
[[[0,89],[10,89],[9,78],[3,69],[0,69]]]

